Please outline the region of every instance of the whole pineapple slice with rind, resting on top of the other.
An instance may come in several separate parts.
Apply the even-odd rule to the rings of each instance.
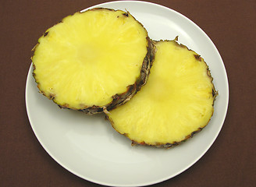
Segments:
[[[90,9],[52,26],[34,48],[34,79],[61,108],[95,114],[129,101],[146,83],[154,48],[129,12]]]

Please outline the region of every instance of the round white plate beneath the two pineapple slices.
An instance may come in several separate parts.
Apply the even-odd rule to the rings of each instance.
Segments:
[[[210,38],[178,12],[150,2],[107,2],[94,7],[127,9],[148,30],[151,39],[179,41],[200,54],[208,63],[219,96],[207,127],[194,138],[170,150],[130,146],[103,115],[59,109],[38,93],[32,76],[27,76],[27,115],[34,134],[44,149],[62,167],[88,181],[111,186],[142,186],[165,181],[190,168],[212,146],[226,117],[229,87],[226,69]],[[90,8],[90,9],[91,9]]]

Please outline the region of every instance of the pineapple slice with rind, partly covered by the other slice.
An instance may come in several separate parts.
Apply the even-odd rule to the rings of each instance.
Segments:
[[[200,55],[176,41],[158,41],[155,46],[148,83],[106,115],[132,144],[168,148],[208,124],[217,93]]]

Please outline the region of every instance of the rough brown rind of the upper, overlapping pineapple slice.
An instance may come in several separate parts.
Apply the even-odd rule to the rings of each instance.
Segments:
[[[88,9],[87,11],[98,11],[101,9],[108,10],[108,11],[114,11],[114,12],[117,11],[115,9],[107,9],[107,8],[94,8],[94,9]],[[84,13],[84,12],[79,12],[79,13]],[[128,12],[128,11],[124,12],[123,16],[133,17],[130,14],[130,12]],[[65,18],[63,18],[63,19],[65,19]],[[135,19],[135,18],[133,17],[133,19]],[[137,21],[137,19],[135,19],[135,20]],[[59,23],[62,23],[62,21],[60,21]],[[140,23],[140,22],[137,21],[137,23]],[[144,28],[144,26],[141,23],[140,23],[140,25]],[[146,30],[146,29],[144,28],[144,30]],[[146,32],[148,34],[147,30],[146,30]],[[41,37],[47,37],[48,33],[49,33],[48,31],[44,32],[44,34]],[[147,52],[146,56],[144,57],[144,61],[142,63],[141,69],[140,69],[140,76],[137,77],[137,80],[135,81],[135,83],[126,87],[126,91],[124,93],[113,95],[112,101],[108,104],[105,104],[104,106],[93,105],[93,106],[84,106],[84,108],[82,108],[82,109],[77,109],[77,108],[69,107],[69,104],[59,104],[55,101],[54,95],[47,96],[46,94],[44,94],[44,91],[42,91],[40,88],[40,82],[37,80],[36,74],[33,71],[32,74],[34,76],[35,82],[37,83],[37,88],[39,89],[39,92],[41,94],[43,94],[45,97],[48,97],[49,100],[52,100],[55,104],[57,104],[59,106],[59,108],[72,109],[75,111],[83,111],[87,115],[95,115],[98,113],[111,111],[112,109],[118,107],[119,105],[125,104],[127,101],[130,101],[130,99],[133,97],[133,95],[136,94],[137,91],[140,90],[141,86],[144,86],[144,84],[147,83],[148,76],[150,74],[151,65],[155,58],[155,45],[154,45],[154,42],[151,41],[151,39],[148,36],[146,37],[146,40],[148,41],[148,47],[147,47],[148,52]],[[34,46],[34,48],[32,49],[33,52],[36,51],[36,48],[38,45],[39,45],[39,43],[37,43]],[[32,55],[31,60],[32,60],[33,56],[34,55]],[[34,70],[36,69],[36,66],[34,65],[34,63],[33,63],[33,69]]]

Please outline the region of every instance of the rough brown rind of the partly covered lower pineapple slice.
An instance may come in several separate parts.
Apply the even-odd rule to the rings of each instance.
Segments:
[[[160,41],[169,41],[169,40],[160,40]],[[178,41],[178,36],[175,37],[175,39],[174,39],[173,41],[175,41],[175,44],[176,44],[179,48],[186,48],[188,51],[193,51],[193,50],[187,48],[186,45],[179,44],[179,43],[177,42],[177,41]],[[159,42],[159,41],[152,41],[152,43],[153,43],[154,45],[155,45],[157,42]],[[157,49],[155,49],[155,52],[156,52],[156,50],[157,50]],[[201,55],[198,55],[195,51],[193,51],[193,52],[196,54],[196,55],[194,55],[194,58],[196,58],[197,61],[203,62],[205,65],[207,65],[207,63],[204,62],[204,59],[201,58]],[[153,63],[154,63],[154,61],[153,61]],[[207,65],[207,67],[208,67],[208,65]],[[211,83],[212,83],[213,78],[212,78],[212,75],[211,75],[211,72],[210,72],[210,69],[209,69],[209,68],[207,69],[207,75],[208,75],[209,79],[211,79]],[[218,91],[215,90],[215,86],[214,86],[214,84],[212,83],[212,97],[213,97],[212,107],[214,107],[215,99],[216,99],[217,96],[218,96]],[[214,113],[214,110],[212,111],[212,115],[213,115],[213,113]],[[212,115],[211,115],[211,118],[212,118]],[[105,112],[105,118],[111,123],[112,127],[115,129],[115,127],[114,127],[114,126],[115,126],[115,125],[114,125],[114,122],[113,122],[112,118],[110,118],[110,117],[108,116],[108,113],[107,113],[107,112]],[[208,122],[204,125],[204,127],[208,125],[208,123],[211,121],[211,118],[210,118],[210,119],[208,120]],[[117,131],[116,129],[115,129],[115,130],[116,130],[116,132],[119,132],[119,134],[122,134],[123,136],[126,136],[128,139],[130,139],[130,140],[131,140],[131,146],[153,146],[153,147],[157,147],[157,148],[169,149],[169,148],[172,148],[173,146],[178,146],[178,145],[180,145],[181,143],[186,142],[188,139],[191,139],[191,138],[192,138],[194,135],[196,135],[198,132],[201,132],[201,131],[204,129],[204,127],[198,128],[198,129],[195,130],[194,132],[191,132],[190,135],[187,135],[187,136],[186,136],[183,140],[181,140],[181,141],[175,141],[175,142],[172,142],[172,143],[165,143],[165,144],[163,144],[163,143],[158,143],[158,142],[155,142],[155,143],[152,143],[152,144],[145,143],[144,141],[142,141],[142,142],[137,142],[137,141],[131,139],[128,134],[126,134],[126,133],[123,133],[123,134],[122,134],[122,133],[120,133],[119,131]]]

